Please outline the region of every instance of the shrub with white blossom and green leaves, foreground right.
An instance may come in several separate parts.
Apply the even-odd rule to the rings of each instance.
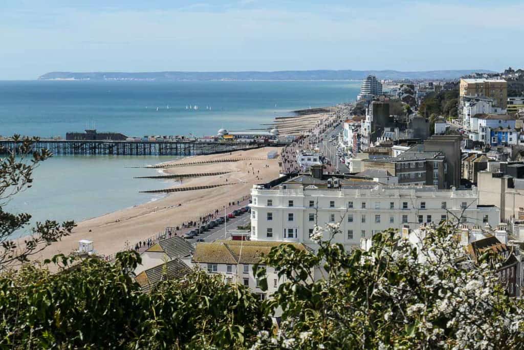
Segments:
[[[268,301],[280,307],[278,332],[260,333],[257,348],[518,348],[522,303],[500,284],[494,257],[466,256],[454,229],[428,229],[416,245],[394,230],[373,237],[368,251],[332,243],[336,224],[316,228],[316,253],[291,246],[263,264],[287,282]],[[324,237],[326,239],[324,240]],[[308,282],[307,271],[323,278]]]

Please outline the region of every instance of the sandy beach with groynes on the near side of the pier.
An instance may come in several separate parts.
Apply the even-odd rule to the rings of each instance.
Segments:
[[[209,214],[215,209],[221,209],[229,201],[249,195],[254,184],[264,183],[278,177],[279,160],[278,158],[268,160],[267,153],[270,151],[280,153],[277,147],[264,147],[257,150],[195,156],[173,161],[171,165],[180,165],[165,168],[163,171],[166,174],[229,172],[216,176],[184,179],[178,187],[226,183],[227,185],[170,193],[156,201],[79,222],[71,236],[53,243],[35,255],[33,259],[47,259],[58,253],[69,254],[78,249],[80,239],[92,240],[94,249],[100,254],[112,254],[124,249],[126,242],[134,246],[137,241],[155,235],[163,231],[165,227],[178,226],[184,221]],[[183,165],[184,163],[223,160],[224,158],[238,161]]]

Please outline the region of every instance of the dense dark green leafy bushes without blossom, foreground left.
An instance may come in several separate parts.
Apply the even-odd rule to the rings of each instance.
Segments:
[[[271,326],[248,289],[216,275],[194,271],[145,294],[127,273],[136,252],[64,261],[57,274],[27,265],[0,279],[0,347],[241,347]]]

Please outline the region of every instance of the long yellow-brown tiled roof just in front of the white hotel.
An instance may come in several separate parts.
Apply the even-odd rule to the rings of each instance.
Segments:
[[[193,262],[216,264],[256,264],[271,248],[282,244],[291,245],[298,250],[310,250],[303,243],[279,241],[233,241],[217,240],[196,243]]]

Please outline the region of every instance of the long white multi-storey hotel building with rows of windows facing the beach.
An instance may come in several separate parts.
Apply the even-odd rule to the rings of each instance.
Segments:
[[[313,228],[328,222],[341,222],[342,235],[335,241],[346,248],[388,228],[456,221],[453,215],[463,212],[463,224],[499,224],[497,207],[477,205],[476,188],[386,186],[366,179],[300,175],[274,189],[255,185],[251,195],[251,240],[300,242],[313,249]]]

